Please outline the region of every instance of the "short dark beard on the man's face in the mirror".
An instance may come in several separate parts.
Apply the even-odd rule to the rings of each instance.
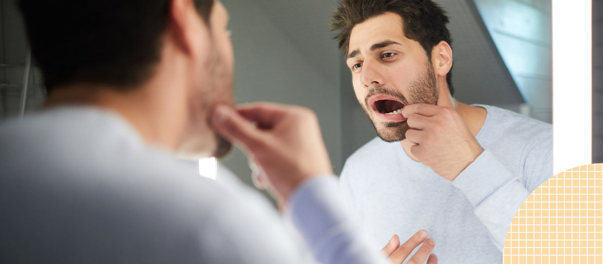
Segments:
[[[373,127],[377,132],[377,136],[386,142],[397,142],[406,139],[406,131],[410,129],[408,122],[382,122],[376,121],[373,116],[374,112],[370,105],[368,105],[368,98],[376,94],[384,94],[394,96],[399,99],[404,105],[411,104],[438,104],[438,87],[437,79],[435,78],[434,68],[431,60],[429,60],[429,66],[426,71],[421,74],[416,80],[412,81],[408,89],[409,97],[406,98],[402,93],[395,89],[387,89],[385,87],[377,87],[368,92],[365,97],[364,112],[367,113],[368,118],[371,119]]]

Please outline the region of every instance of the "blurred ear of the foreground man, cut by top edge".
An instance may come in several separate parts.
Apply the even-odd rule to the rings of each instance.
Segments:
[[[192,0],[172,0],[169,7],[168,37],[185,54],[193,57],[201,52],[207,27]]]

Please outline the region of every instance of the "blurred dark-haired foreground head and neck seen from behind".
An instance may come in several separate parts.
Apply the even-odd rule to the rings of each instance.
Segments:
[[[110,109],[127,101],[130,108],[146,109],[130,119],[157,121],[147,125],[147,134],[162,137],[147,141],[189,157],[229,151],[230,143],[209,125],[215,105],[234,101],[232,43],[221,3],[21,0],[19,5],[49,98],[64,104],[80,98],[75,103]]]

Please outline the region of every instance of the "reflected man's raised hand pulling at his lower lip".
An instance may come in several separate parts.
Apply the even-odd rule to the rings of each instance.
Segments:
[[[447,180],[454,180],[484,151],[453,108],[412,104],[402,115],[411,128],[406,139],[414,143],[412,155]]]

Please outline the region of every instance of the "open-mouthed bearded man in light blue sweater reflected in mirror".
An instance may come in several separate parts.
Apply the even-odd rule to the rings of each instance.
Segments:
[[[453,98],[448,21],[431,0],[340,2],[332,28],[380,138],[340,186],[377,242],[425,229],[446,262],[500,263],[516,210],[552,176],[551,125]]]

